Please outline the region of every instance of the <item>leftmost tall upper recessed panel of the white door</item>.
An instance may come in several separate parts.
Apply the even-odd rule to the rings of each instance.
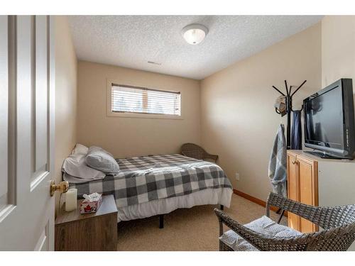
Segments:
[[[16,19],[0,16],[0,224],[16,207]],[[3,150],[4,149],[4,150]]]

